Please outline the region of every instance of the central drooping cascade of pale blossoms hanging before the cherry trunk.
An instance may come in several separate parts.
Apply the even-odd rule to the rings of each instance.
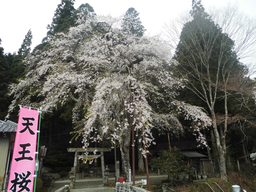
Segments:
[[[150,123],[153,110],[148,105],[145,88],[131,75],[104,77],[95,88],[95,96],[87,112],[84,145],[89,145],[88,138],[97,141],[109,137],[112,142],[113,139],[121,141],[131,125],[134,125],[137,136],[142,132],[145,142],[150,144],[153,141]]]

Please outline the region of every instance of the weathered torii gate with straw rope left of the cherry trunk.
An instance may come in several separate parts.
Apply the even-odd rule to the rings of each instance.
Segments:
[[[105,164],[104,164],[104,155],[103,152],[111,151],[111,148],[68,148],[68,152],[75,152],[75,160],[74,160],[74,182],[76,180],[76,172],[78,168],[78,157],[79,157],[79,152],[101,152],[101,156],[98,157],[99,155],[81,155],[83,158],[101,158],[101,171],[102,171],[102,180],[103,184],[105,184]]]

